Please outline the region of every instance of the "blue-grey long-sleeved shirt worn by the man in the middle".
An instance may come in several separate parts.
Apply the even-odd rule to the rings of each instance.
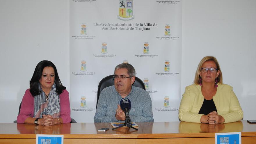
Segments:
[[[131,101],[129,115],[132,122],[154,122],[150,95],[142,88],[132,86],[126,98]],[[99,96],[94,122],[125,122],[115,118],[122,97],[115,86],[104,88]]]

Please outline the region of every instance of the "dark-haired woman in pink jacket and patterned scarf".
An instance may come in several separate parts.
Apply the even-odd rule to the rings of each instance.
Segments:
[[[17,122],[49,126],[70,121],[66,87],[62,86],[55,65],[41,61],[35,67],[30,89],[23,96]]]

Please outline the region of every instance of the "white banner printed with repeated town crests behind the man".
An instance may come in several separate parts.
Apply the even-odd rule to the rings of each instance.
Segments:
[[[71,117],[94,122],[99,81],[130,63],[154,121],[178,121],[181,35],[182,1],[70,0]]]

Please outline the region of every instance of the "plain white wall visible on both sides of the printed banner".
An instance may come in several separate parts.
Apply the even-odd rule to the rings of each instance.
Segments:
[[[256,119],[255,7],[250,0],[182,2],[182,94],[201,58],[216,56],[244,120]],[[69,1],[0,1],[0,11],[0,122],[13,122],[39,61],[52,61],[70,90]]]

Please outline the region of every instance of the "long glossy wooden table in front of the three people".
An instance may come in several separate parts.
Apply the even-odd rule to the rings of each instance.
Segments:
[[[36,134],[64,135],[64,143],[162,143],[162,144],[214,144],[215,133],[240,132],[242,143],[256,143],[256,125],[246,120],[226,124],[200,124],[190,122],[137,123],[138,131],[128,128],[112,130],[109,123],[67,123],[41,126],[17,123],[0,123],[0,143],[33,143]],[[107,127],[106,132],[97,129]]]

